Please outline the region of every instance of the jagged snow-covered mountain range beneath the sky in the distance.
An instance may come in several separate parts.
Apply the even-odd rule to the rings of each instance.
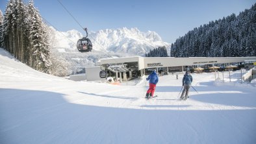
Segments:
[[[59,32],[53,28],[55,35],[55,44],[53,47],[58,50],[77,51],[76,43],[83,34],[78,30],[69,30],[67,32]],[[147,31],[141,32],[137,28],[127,29],[105,29],[97,32],[89,32],[88,38],[92,41],[93,51],[103,51],[105,53],[128,53],[131,55],[144,56],[151,49],[166,46],[170,49],[170,43],[163,42],[157,32]],[[61,49],[62,48],[62,49]],[[64,49],[63,49],[64,48]]]

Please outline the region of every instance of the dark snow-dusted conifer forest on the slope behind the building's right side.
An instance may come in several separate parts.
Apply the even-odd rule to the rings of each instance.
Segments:
[[[210,21],[177,38],[172,57],[256,56],[256,3],[238,16]]]

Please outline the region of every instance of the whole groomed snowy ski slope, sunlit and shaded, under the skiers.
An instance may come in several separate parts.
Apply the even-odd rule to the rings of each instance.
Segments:
[[[0,49],[0,143],[256,143],[256,87],[237,82],[240,71],[228,75],[193,73],[198,93],[186,101],[177,99],[183,75],[162,76],[146,100],[146,77],[74,82]]]

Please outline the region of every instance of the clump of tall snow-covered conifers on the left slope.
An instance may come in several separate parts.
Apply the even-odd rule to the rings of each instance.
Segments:
[[[51,73],[49,33],[34,2],[10,0],[0,11],[0,47],[38,71]]]

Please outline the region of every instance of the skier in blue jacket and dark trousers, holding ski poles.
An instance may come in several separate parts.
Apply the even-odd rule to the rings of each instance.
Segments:
[[[184,86],[182,94],[181,94],[181,99],[188,99],[188,91],[189,88],[191,86],[191,83],[193,81],[193,77],[190,75],[190,71],[186,71],[186,74],[184,75],[183,79],[182,79],[182,85]],[[185,97],[184,97],[184,93]]]

